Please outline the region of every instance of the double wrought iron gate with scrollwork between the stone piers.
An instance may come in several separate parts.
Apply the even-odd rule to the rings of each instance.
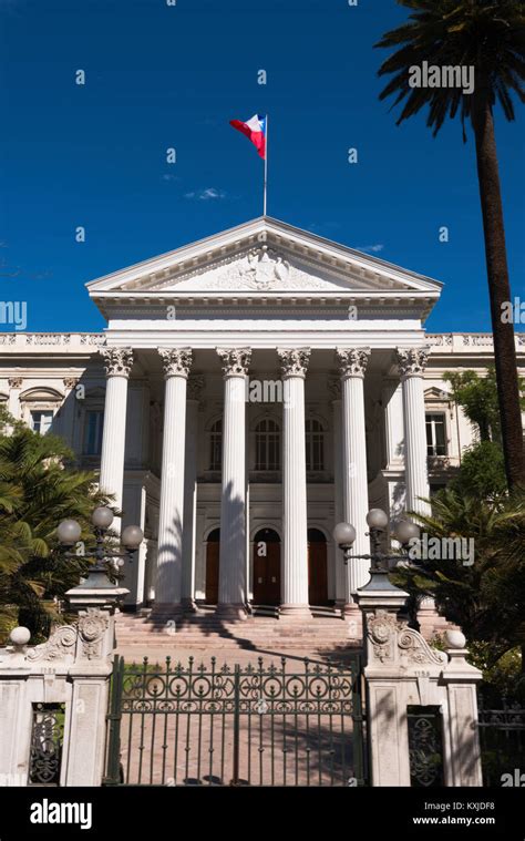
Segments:
[[[114,660],[105,784],[362,786],[359,655],[344,666]]]

